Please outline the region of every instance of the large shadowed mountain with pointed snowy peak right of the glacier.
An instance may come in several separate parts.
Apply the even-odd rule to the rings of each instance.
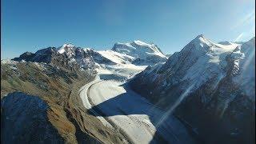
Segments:
[[[130,86],[190,123],[206,143],[254,138],[255,38],[216,44],[199,35],[163,65],[149,66]]]

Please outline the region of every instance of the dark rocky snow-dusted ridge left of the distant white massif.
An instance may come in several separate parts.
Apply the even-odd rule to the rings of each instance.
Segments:
[[[61,51],[60,49],[66,50]],[[62,66],[70,70],[94,70],[95,63],[91,51],[85,51],[80,47],[63,45],[61,48],[48,47],[46,49],[38,50],[35,54],[26,52],[14,61],[21,62],[44,62],[54,66]]]

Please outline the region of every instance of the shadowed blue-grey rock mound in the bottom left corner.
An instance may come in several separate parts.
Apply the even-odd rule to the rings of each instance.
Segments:
[[[14,92],[1,100],[1,143],[63,143],[51,125],[49,106],[36,96]]]

